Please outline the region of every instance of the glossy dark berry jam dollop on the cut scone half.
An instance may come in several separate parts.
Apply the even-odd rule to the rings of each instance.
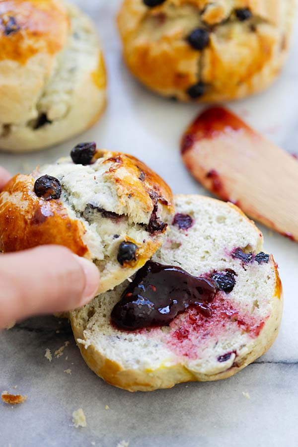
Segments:
[[[190,306],[196,306],[204,317],[211,317],[209,304],[218,290],[212,279],[149,261],[114,306],[111,320],[126,330],[166,326]]]

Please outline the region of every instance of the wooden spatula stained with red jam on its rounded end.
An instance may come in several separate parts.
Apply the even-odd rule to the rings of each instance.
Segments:
[[[298,241],[298,161],[222,107],[205,110],[181,142],[183,161],[205,188]]]

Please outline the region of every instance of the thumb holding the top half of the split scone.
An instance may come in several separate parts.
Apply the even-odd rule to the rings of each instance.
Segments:
[[[98,286],[96,266],[62,246],[0,254],[0,328],[30,315],[82,306]]]

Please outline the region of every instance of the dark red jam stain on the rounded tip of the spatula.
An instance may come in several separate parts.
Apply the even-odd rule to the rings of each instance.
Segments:
[[[188,127],[181,140],[181,153],[191,149],[197,141],[218,138],[227,132],[253,130],[240,118],[224,107],[211,107],[200,113]]]

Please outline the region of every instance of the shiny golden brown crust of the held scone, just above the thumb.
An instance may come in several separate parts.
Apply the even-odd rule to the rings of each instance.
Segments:
[[[16,175],[0,194],[0,228],[3,252],[44,244],[64,245],[79,256],[88,252],[82,223],[70,219],[60,200],[37,197],[31,175]]]

